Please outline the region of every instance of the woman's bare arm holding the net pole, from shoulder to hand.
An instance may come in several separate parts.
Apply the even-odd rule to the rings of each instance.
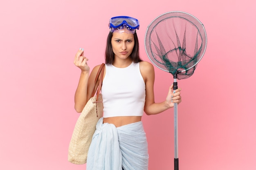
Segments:
[[[154,67],[149,62],[140,62],[140,71],[146,84],[146,101],[145,101],[144,111],[147,115],[155,115],[155,114],[161,113],[164,110],[167,110],[168,108],[172,108],[174,106],[173,103],[179,104],[181,102],[181,96],[180,96],[181,89],[178,88],[175,91],[173,91],[173,85],[171,85],[168,89],[166,100],[161,103],[155,103]]]

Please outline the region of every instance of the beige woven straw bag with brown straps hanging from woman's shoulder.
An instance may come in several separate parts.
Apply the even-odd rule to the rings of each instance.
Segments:
[[[76,121],[74,131],[68,148],[68,161],[75,164],[84,164],[87,160],[88,149],[92,141],[92,135],[96,130],[96,124],[99,118],[103,116],[102,97],[99,93],[101,90],[102,79],[105,64],[102,63],[96,75],[94,82],[94,91],[92,97],[88,100],[79,118]],[[102,73],[101,73],[101,70]],[[97,95],[95,94],[95,84],[101,75]],[[93,97],[94,96],[94,97]]]

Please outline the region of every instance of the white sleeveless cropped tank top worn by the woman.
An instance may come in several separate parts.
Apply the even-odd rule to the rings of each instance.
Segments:
[[[139,62],[126,68],[106,64],[102,82],[103,117],[142,116],[146,88],[139,69]]]

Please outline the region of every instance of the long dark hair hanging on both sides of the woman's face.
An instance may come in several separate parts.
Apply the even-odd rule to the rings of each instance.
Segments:
[[[108,38],[107,38],[107,45],[106,45],[106,51],[105,51],[105,63],[106,64],[112,64],[114,61],[114,52],[112,50],[112,44],[111,44],[111,39],[112,39],[113,33],[109,32],[108,33]],[[134,33],[134,47],[132,49],[132,53],[130,55],[131,59],[133,62],[141,62],[142,60],[139,57],[139,40],[137,37],[137,33]]]

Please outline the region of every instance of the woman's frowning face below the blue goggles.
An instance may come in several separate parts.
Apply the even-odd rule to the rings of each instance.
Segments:
[[[134,34],[132,33],[113,33],[112,50],[115,54],[115,58],[126,59],[132,53],[134,47]]]

